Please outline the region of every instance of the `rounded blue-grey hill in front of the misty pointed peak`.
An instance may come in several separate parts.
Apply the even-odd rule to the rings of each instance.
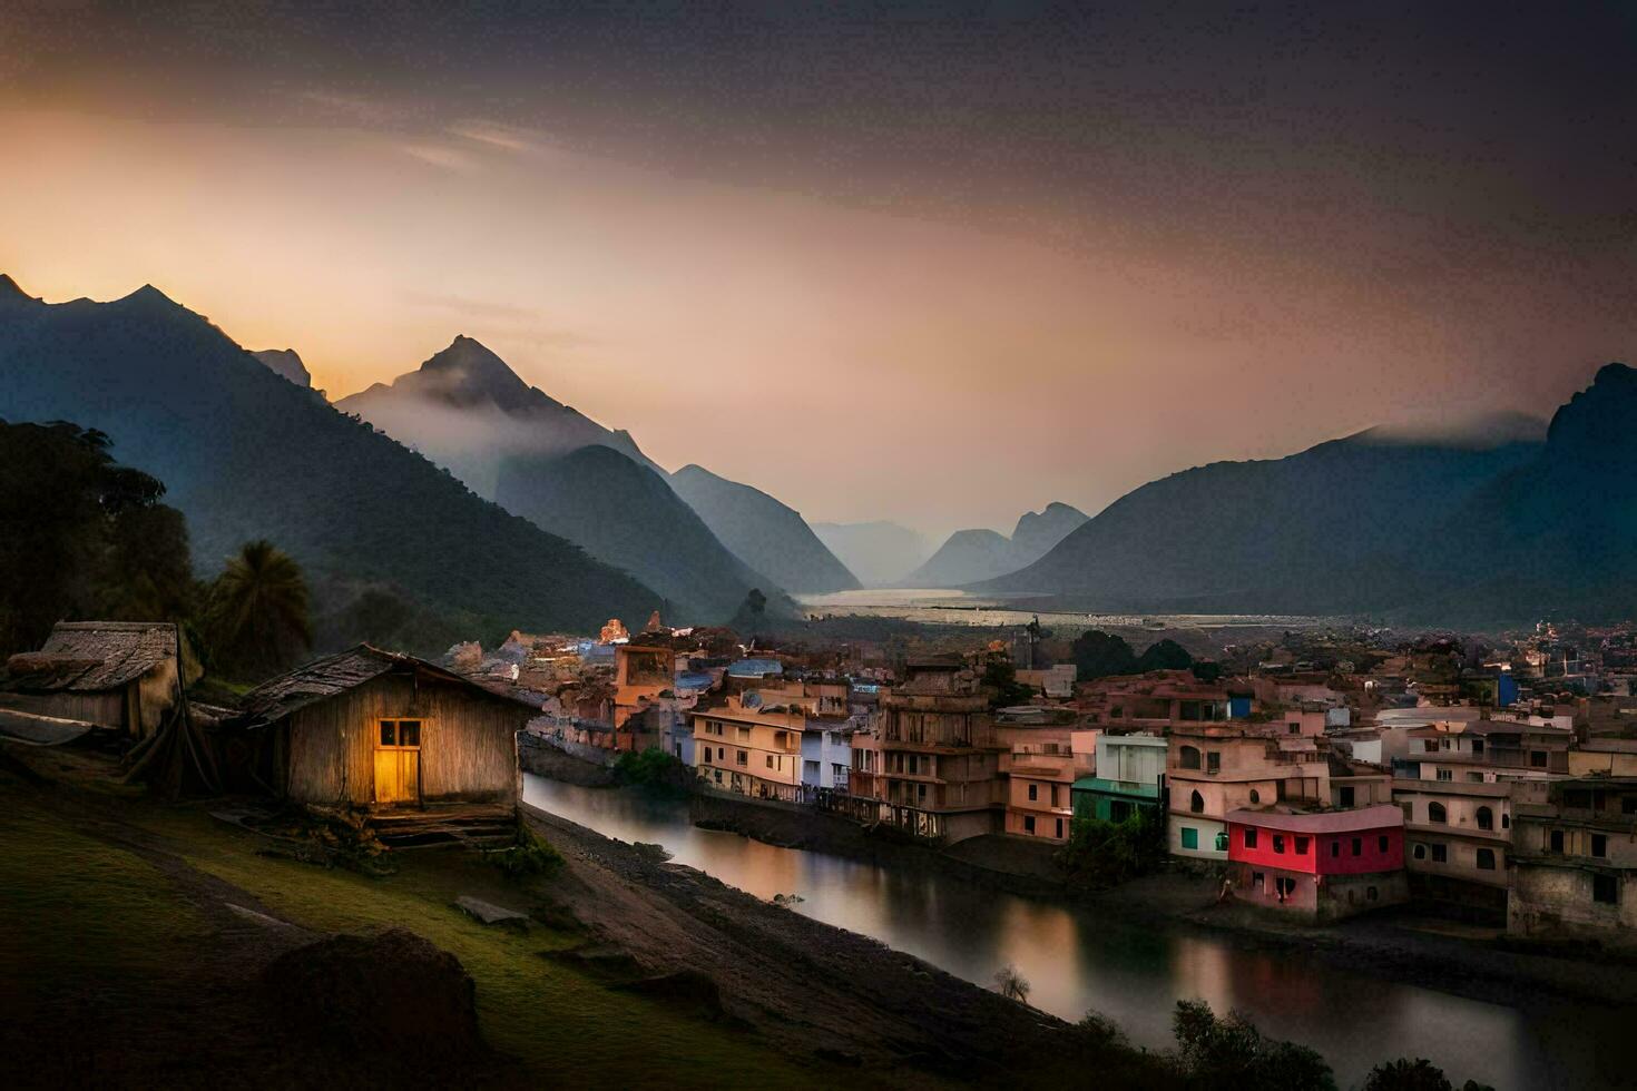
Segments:
[[[725,622],[751,587],[774,597],[660,474],[609,447],[507,458],[494,499],[658,590],[666,620]]]

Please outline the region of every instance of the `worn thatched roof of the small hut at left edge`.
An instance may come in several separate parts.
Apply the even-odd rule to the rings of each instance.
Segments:
[[[8,689],[120,689],[177,656],[170,622],[57,622],[39,651],[7,661]]]

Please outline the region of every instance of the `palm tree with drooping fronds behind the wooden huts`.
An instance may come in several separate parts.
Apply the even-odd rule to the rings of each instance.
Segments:
[[[229,671],[262,677],[313,644],[308,589],[288,553],[247,541],[211,587],[210,622]]]

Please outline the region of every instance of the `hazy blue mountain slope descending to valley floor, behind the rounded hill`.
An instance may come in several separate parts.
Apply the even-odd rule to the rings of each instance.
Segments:
[[[761,489],[719,478],[702,466],[683,466],[671,487],[745,564],[787,590],[828,594],[853,590],[846,571],[794,509]]]

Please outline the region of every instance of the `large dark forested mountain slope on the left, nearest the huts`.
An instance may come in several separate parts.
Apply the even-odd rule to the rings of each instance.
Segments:
[[[10,281],[7,281],[10,283]],[[152,286],[115,303],[29,301],[0,285],[0,417],[72,420],[167,486],[211,574],[270,538],[329,618],[388,597],[422,651],[512,628],[596,631],[660,595],[473,496],[419,455],[273,375]],[[373,610],[378,618],[381,610]],[[327,643],[362,635],[321,618]]]

